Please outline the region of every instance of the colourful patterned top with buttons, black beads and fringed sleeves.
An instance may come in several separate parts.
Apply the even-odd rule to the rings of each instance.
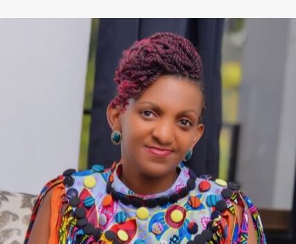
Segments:
[[[51,244],[247,243],[249,221],[257,243],[266,243],[258,211],[234,183],[212,181],[209,175],[197,178],[180,164],[170,189],[137,195],[121,182],[120,171],[121,164],[115,163],[108,170],[100,165],[82,172],[70,169],[46,184],[35,203],[24,243],[50,189]],[[234,205],[243,211],[240,223]]]

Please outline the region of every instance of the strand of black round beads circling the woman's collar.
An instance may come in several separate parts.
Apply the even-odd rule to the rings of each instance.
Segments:
[[[120,166],[120,164],[118,165]],[[120,201],[125,205],[132,205],[133,207],[139,209],[140,207],[149,207],[154,208],[157,206],[163,207],[166,206],[166,204],[171,203],[174,204],[178,200],[186,197],[188,195],[189,191],[195,189],[195,180],[196,176],[191,173],[191,177],[186,182],[186,186],[182,187],[175,193],[171,193],[166,196],[162,196],[159,198],[148,198],[148,199],[142,199],[135,195],[125,195],[123,193],[119,193],[112,187],[112,183],[114,181],[114,173],[116,173],[116,169],[118,166],[115,166],[112,168],[112,173],[110,174],[110,177],[108,179],[107,185],[106,185],[106,193],[108,195],[111,195],[112,199],[116,202]]]

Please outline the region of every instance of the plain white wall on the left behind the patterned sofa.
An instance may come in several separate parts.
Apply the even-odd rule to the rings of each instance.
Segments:
[[[90,19],[0,19],[0,189],[78,167]]]

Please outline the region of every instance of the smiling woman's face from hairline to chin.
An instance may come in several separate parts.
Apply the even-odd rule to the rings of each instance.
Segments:
[[[112,125],[122,133],[124,166],[146,177],[175,173],[186,152],[202,136],[203,125],[198,123],[201,111],[202,93],[196,83],[160,76],[137,101],[130,99],[118,124]]]

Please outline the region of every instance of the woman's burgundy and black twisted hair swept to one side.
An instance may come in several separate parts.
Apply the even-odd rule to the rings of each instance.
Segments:
[[[202,92],[201,120],[204,114],[202,60],[189,40],[173,33],[155,33],[123,51],[114,77],[118,84],[117,94],[110,105],[121,105],[125,110],[130,98],[140,98],[162,75],[189,78],[199,85]]]

